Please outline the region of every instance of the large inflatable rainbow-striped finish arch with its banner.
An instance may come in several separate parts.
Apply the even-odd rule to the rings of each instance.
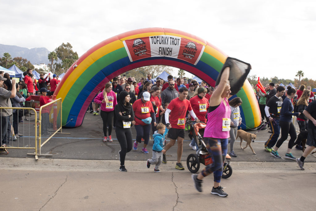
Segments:
[[[167,49],[170,44],[172,50]],[[175,29],[143,28],[116,35],[89,49],[62,78],[54,96],[62,98],[62,124],[80,126],[96,93],[126,71],[148,65],[168,65],[188,71],[214,86],[226,58],[225,53],[206,40]],[[258,127],[261,123],[259,106],[247,80],[233,97],[236,96],[243,101],[240,109],[243,128]]]

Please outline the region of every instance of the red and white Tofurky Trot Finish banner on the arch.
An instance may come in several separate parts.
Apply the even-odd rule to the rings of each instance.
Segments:
[[[195,41],[170,35],[140,37],[124,40],[123,43],[131,62],[162,56],[182,59],[196,65],[205,48]]]

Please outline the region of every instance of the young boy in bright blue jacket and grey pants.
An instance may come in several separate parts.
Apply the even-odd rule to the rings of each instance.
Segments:
[[[168,133],[166,126],[162,123],[157,125],[157,130],[155,131],[154,138],[154,146],[153,146],[153,157],[147,160],[147,168],[150,167],[150,164],[156,164],[154,172],[160,172],[158,167],[162,162],[162,153],[165,153],[166,150],[163,149],[163,145],[165,142],[165,136]]]

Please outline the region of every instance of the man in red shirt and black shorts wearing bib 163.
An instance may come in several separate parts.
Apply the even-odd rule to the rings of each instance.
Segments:
[[[188,89],[186,87],[181,87],[179,90],[179,97],[173,99],[165,114],[165,120],[166,120],[166,126],[169,129],[168,131],[168,137],[170,138],[170,142],[167,143],[165,150],[167,151],[172,147],[176,140],[178,140],[178,159],[176,164],[176,169],[184,170],[184,167],[182,165],[181,156],[183,151],[183,139],[185,136],[185,115],[186,111],[189,111],[190,115],[195,119],[197,122],[199,120],[197,119],[196,115],[194,114],[190,101],[186,99],[188,96]],[[170,122],[169,122],[169,114],[171,116]],[[166,160],[166,152],[162,154],[162,162],[167,163]]]

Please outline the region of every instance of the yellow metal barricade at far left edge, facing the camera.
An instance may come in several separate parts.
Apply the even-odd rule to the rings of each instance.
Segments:
[[[12,115],[8,115],[8,109]],[[8,149],[34,149],[35,159],[37,154],[37,113],[33,108],[0,107],[1,110],[1,151],[9,152]],[[14,112],[13,112],[14,111]],[[17,112],[16,112],[17,111]],[[33,111],[34,115],[30,115]],[[25,116],[25,118],[24,118]],[[12,133],[12,135],[11,135]],[[10,136],[11,135],[11,136]],[[6,146],[4,146],[5,144]]]

